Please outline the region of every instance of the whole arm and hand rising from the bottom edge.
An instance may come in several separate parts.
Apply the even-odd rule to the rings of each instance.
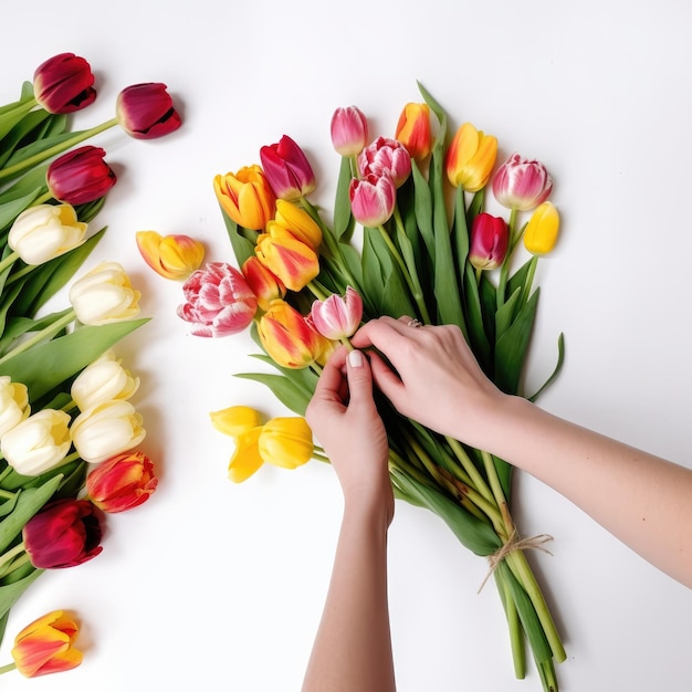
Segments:
[[[367,358],[349,354],[332,355],[305,413],[342,485],[344,511],[303,692],[396,689],[387,598],[389,445]]]

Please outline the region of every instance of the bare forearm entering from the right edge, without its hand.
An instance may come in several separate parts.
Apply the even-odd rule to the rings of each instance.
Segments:
[[[647,560],[692,587],[692,471],[514,397],[487,451],[543,481]]]

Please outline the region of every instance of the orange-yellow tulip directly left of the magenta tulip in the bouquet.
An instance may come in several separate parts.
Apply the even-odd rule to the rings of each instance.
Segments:
[[[214,176],[213,190],[221,209],[242,228],[263,231],[274,214],[276,198],[260,166]]]

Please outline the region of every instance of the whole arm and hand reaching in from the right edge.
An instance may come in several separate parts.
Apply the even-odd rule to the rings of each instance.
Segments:
[[[691,470],[501,392],[458,327],[381,317],[352,340],[394,366],[370,356],[377,386],[401,413],[531,473],[692,588]]]

